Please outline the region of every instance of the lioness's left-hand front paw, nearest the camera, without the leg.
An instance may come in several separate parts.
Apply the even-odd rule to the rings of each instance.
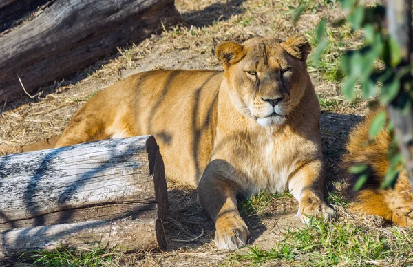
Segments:
[[[238,249],[246,245],[249,231],[238,214],[222,215],[215,222],[215,244],[220,249]]]

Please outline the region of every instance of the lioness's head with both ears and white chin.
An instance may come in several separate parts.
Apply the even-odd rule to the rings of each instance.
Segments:
[[[263,127],[280,125],[300,102],[311,47],[302,35],[286,41],[255,37],[242,45],[221,43],[215,55],[224,67],[231,102]]]

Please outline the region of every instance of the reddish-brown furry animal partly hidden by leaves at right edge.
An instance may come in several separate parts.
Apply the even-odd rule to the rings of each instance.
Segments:
[[[370,177],[363,188],[354,192],[351,186],[348,190],[350,200],[353,202],[352,209],[370,215],[379,215],[399,226],[412,226],[413,193],[406,171],[401,171],[394,189],[379,189],[390,165],[387,152],[392,139],[385,127],[373,142],[368,142],[370,124],[377,112],[370,112],[366,119],[350,133],[348,152],[343,156],[345,173],[356,164],[367,164],[370,168]],[[356,181],[356,177],[348,175],[350,184]]]

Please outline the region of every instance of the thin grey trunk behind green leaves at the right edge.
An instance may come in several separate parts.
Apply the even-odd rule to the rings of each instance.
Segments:
[[[398,67],[408,66],[413,63],[412,0],[388,0],[385,3],[389,33],[401,50],[402,61]],[[412,77],[410,73],[402,78],[399,95],[390,103],[388,111],[413,188],[413,107],[407,113],[397,107],[410,97],[407,93],[413,89]]]

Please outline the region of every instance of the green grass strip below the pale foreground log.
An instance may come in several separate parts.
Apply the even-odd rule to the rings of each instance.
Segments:
[[[117,259],[120,254],[116,248],[96,245],[92,250],[73,250],[59,246],[55,250],[36,250],[23,253],[20,261],[28,262],[30,266],[44,267],[78,267],[78,266],[119,266]]]

